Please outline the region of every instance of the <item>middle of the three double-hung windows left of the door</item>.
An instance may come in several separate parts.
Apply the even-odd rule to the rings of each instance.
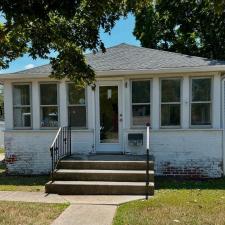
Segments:
[[[56,83],[40,84],[41,127],[59,126],[58,85]]]

